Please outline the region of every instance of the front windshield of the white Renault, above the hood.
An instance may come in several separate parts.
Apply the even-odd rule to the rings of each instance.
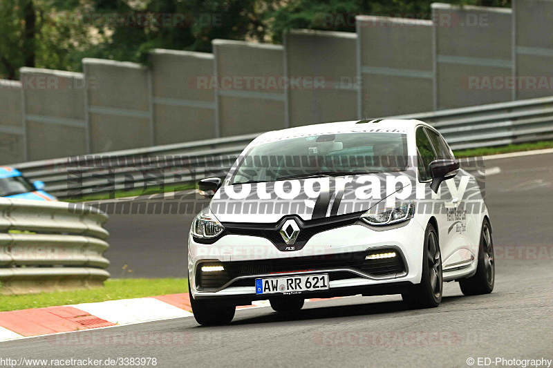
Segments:
[[[274,182],[317,175],[404,171],[403,133],[336,133],[280,139],[254,146],[242,157],[229,184]]]

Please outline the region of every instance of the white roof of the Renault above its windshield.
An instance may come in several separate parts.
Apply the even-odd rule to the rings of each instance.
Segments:
[[[297,126],[282,130],[273,130],[257,137],[255,144],[270,142],[279,139],[301,137],[308,135],[337,134],[337,133],[404,133],[407,134],[415,126],[428,124],[415,119],[364,119],[348,122],[333,122]]]

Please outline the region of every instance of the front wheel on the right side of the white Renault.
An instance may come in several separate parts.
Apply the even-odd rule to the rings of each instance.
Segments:
[[[420,284],[402,293],[402,299],[411,309],[438,307],[442,302],[442,255],[438,233],[432,224],[424,232],[422,277]]]

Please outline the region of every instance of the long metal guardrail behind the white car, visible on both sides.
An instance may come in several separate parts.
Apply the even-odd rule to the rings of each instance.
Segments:
[[[454,150],[553,139],[553,97],[526,99],[431,113],[388,118],[420,119],[435,126]],[[175,183],[192,184],[204,175],[224,176],[232,160],[259,135],[241,135],[198,142],[140,148],[98,156],[113,159],[151,159],[151,166],[110,164],[86,166],[77,156],[14,165],[30,180],[42,180],[59,197],[107,193],[120,189]],[[187,157],[175,164],[171,157]],[[209,173],[209,174],[207,174]]]

